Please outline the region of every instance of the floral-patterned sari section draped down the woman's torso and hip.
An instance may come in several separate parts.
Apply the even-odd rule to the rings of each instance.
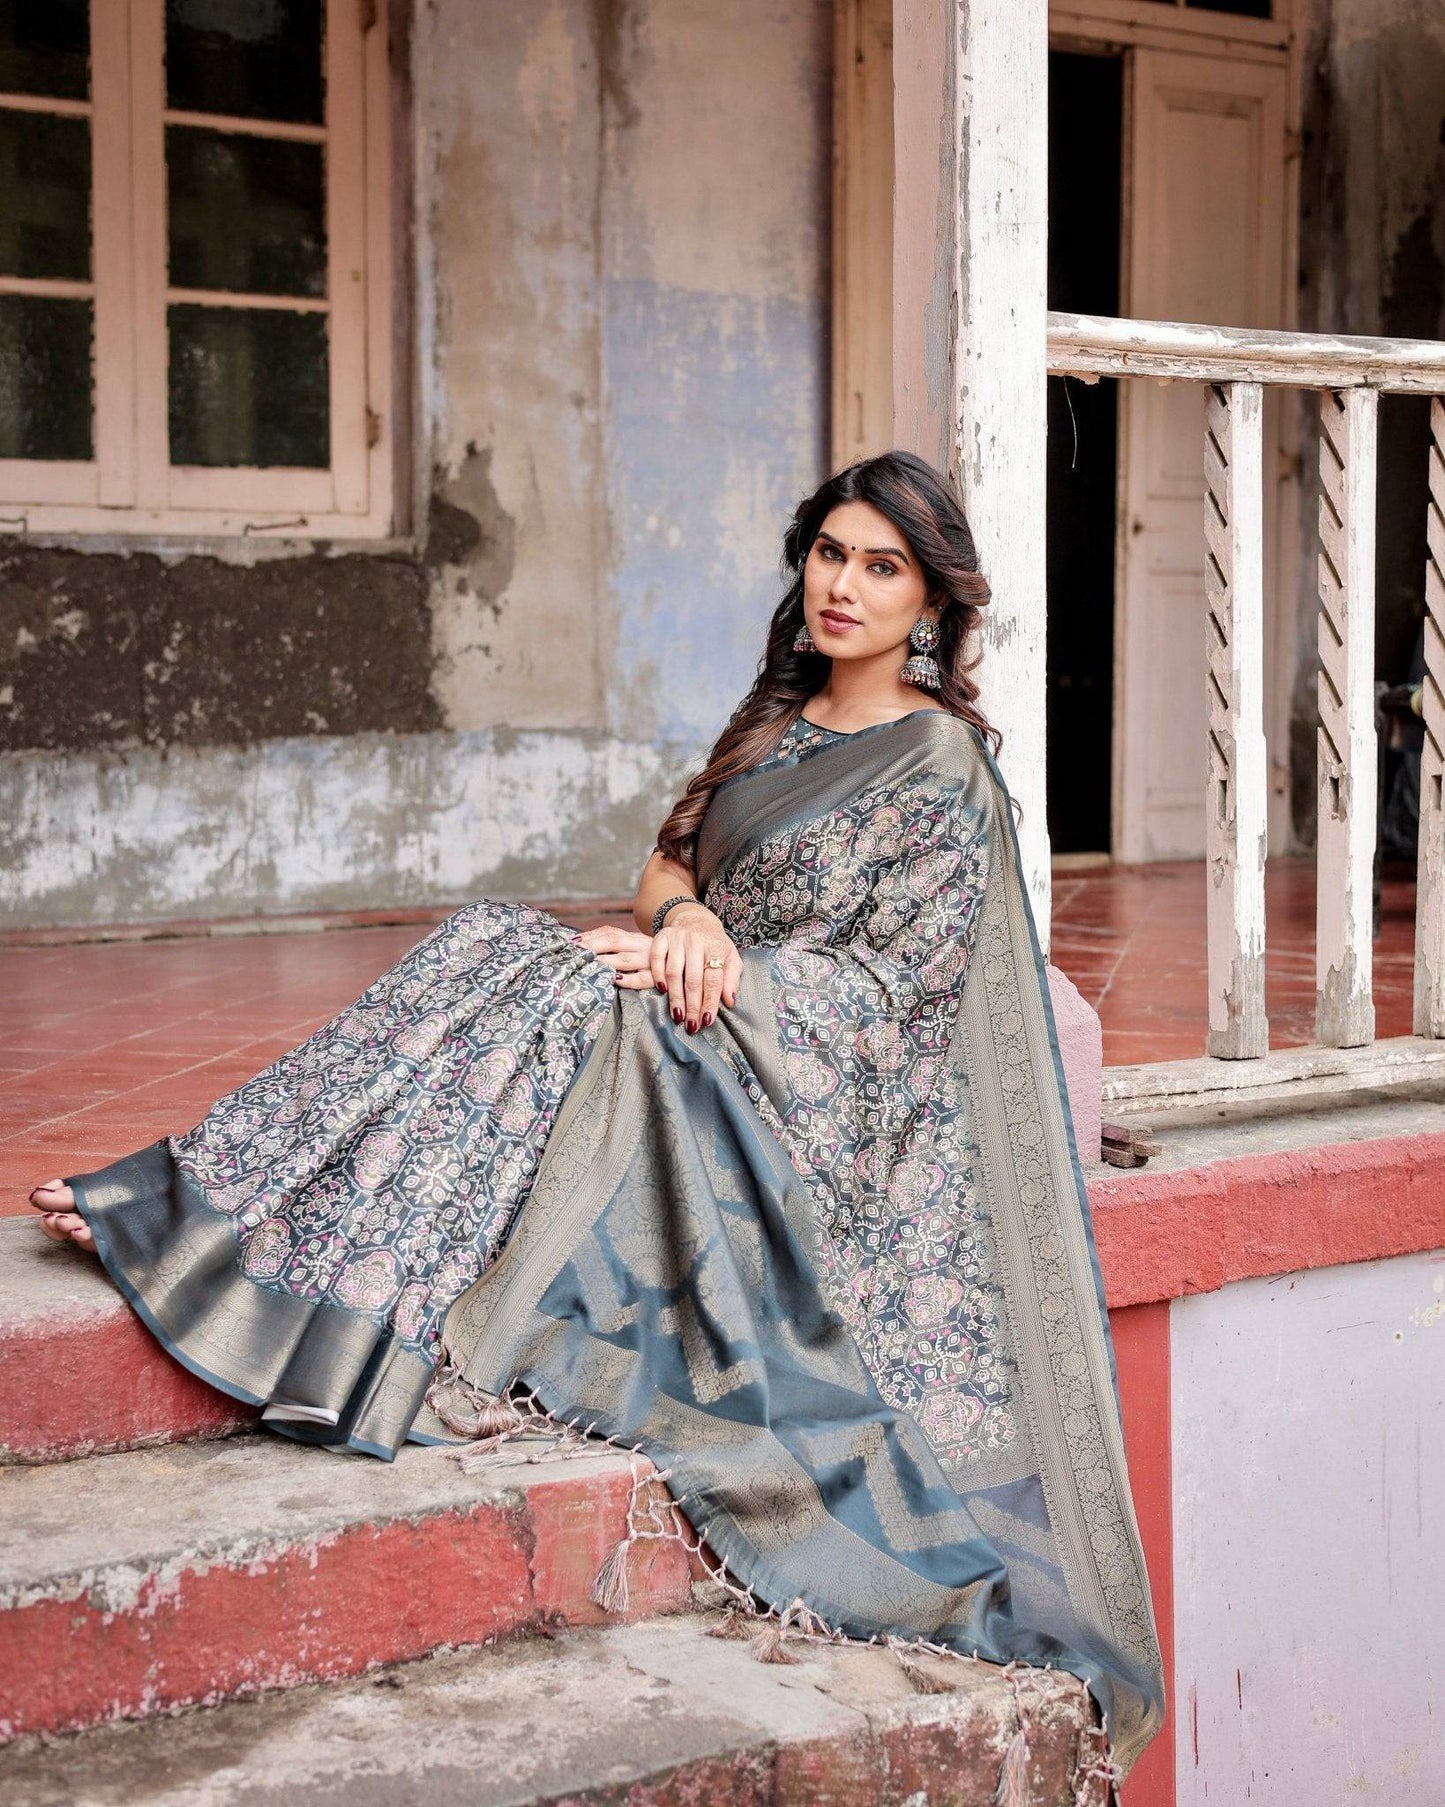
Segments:
[[[845,739],[802,721],[771,759]],[[977,1147],[950,1059],[988,837],[921,775],[760,842],[704,902],[764,949],[788,1095],[737,1075],[807,1182],[824,1274],[883,1399],[945,1469],[1019,1435]],[[744,979],[746,983],[746,979]]]

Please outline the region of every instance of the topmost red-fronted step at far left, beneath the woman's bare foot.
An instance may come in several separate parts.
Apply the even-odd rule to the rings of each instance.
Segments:
[[[197,1381],[94,1256],[0,1218],[0,1464],[224,1437],[256,1411]]]

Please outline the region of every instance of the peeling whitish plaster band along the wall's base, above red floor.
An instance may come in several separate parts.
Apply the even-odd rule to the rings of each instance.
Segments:
[[[7,885],[45,922],[560,898],[578,873],[620,896],[676,766],[598,730],[515,728],[9,761]]]

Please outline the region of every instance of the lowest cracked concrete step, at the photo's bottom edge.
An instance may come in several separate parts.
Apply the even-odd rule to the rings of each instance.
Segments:
[[[9,1807],[983,1807],[1026,1724],[1019,1807],[1102,1807],[1082,1682],[876,1648],[753,1661],[701,1615],[522,1639],[365,1681],[29,1738]]]

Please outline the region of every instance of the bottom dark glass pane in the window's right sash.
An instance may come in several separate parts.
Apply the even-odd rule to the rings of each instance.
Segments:
[[[331,463],[327,316],[170,309],[172,464]]]

